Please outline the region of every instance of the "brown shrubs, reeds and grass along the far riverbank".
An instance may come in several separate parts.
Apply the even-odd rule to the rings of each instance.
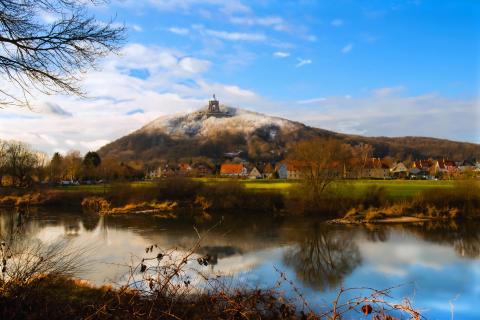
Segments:
[[[416,181],[340,181],[320,198],[308,185],[255,183],[233,179],[169,178],[157,182],[124,182],[108,186],[0,188],[0,207],[82,207],[104,215],[252,212],[269,215],[313,215],[334,223],[408,223],[480,217],[480,182],[456,180],[420,185]],[[278,185],[277,185],[278,184]],[[400,190],[400,191],[399,191]]]

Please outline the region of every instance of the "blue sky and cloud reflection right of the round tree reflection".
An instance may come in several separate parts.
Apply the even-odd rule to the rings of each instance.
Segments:
[[[472,310],[472,300],[480,299],[478,261],[472,263],[459,257],[451,246],[419,241],[408,233],[392,233],[386,242],[362,240],[359,247],[366,263],[345,286],[386,288],[407,284],[399,288],[398,295],[412,296],[414,304],[425,309],[431,319],[450,317],[449,301],[458,295],[454,302],[456,318],[480,316]]]

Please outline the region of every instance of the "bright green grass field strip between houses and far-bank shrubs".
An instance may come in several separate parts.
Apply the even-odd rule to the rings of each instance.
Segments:
[[[200,181],[207,184],[225,183],[230,181],[238,181],[243,184],[247,189],[254,191],[278,191],[288,194],[290,191],[295,190],[301,186],[300,181],[293,180],[239,180],[239,179],[225,179],[225,178],[195,178],[195,181]],[[141,188],[142,186],[152,185],[154,182],[140,181],[130,183],[134,187]],[[347,180],[337,182],[336,186],[343,192],[350,193],[353,197],[358,197],[364,194],[370,186],[381,186],[387,191],[389,197],[394,199],[409,198],[415,194],[435,189],[435,188],[452,188],[455,185],[455,181],[439,180],[439,181],[425,181],[425,180]],[[103,193],[104,190],[108,191],[112,188],[112,185],[79,185],[79,186],[67,186],[57,187],[60,190],[66,190],[71,192],[93,192]]]

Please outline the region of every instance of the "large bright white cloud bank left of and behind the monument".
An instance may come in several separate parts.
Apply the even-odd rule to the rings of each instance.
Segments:
[[[216,93],[222,103],[252,109],[265,102],[255,92],[202,78],[207,60],[157,46],[131,44],[105,59],[102,70],[86,75],[89,98],[36,96],[36,112],[6,108],[0,114],[0,137],[30,143],[49,153],[71,148],[82,152],[132,132],[158,116],[191,111]],[[146,79],[130,75],[147,69]],[[60,108],[61,106],[61,108]],[[143,112],[129,114],[141,108]]]

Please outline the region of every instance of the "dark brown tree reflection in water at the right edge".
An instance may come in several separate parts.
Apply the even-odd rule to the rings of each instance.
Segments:
[[[452,246],[461,257],[480,257],[479,222],[434,221],[405,228],[426,241]]]

